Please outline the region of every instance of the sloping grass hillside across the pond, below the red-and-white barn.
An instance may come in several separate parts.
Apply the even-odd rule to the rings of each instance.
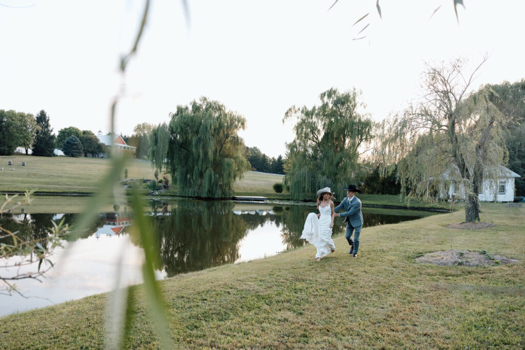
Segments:
[[[22,166],[22,162],[26,162],[26,166]],[[4,171],[0,172],[0,192],[35,189],[43,193],[94,193],[108,173],[111,160],[15,155],[15,170],[6,164],[4,160]],[[126,168],[128,178],[154,178],[149,162],[130,160]]]

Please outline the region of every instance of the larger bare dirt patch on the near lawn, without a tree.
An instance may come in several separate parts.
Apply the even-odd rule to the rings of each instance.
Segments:
[[[509,264],[518,262],[516,259],[509,259],[500,255],[480,253],[468,250],[444,250],[427,253],[416,258],[417,262],[424,264],[434,264],[439,266],[493,266],[497,264]]]

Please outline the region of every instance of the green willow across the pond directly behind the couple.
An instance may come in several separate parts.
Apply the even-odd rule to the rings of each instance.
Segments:
[[[360,92],[332,88],[320,94],[321,104],[308,109],[292,106],[282,122],[295,120],[295,139],[287,144],[285,185],[292,199],[311,199],[329,186],[343,194],[343,186],[359,172],[361,146],[372,139],[372,120],[361,112]]]

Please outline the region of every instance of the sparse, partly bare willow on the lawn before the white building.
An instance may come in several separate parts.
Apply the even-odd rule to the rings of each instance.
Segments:
[[[470,93],[485,61],[470,75],[463,59],[427,64],[422,99],[383,124],[376,149],[384,169],[397,164],[397,178],[408,197],[431,200],[454,188],[456,197],[465,199],[467,222],[479,221],[482,191],[497,195],[507,158],[502,128],[508,118],[490,101],[495,92],[481,88]]]

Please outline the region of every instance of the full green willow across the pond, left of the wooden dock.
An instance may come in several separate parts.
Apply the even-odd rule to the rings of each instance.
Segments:
[[[237,135],[245,125],[243,116],[205,97],[190,105],[178,105],[167,133],[163,125],[152,133],[155,167],[170,172],[178,195],[230,197],[235,180],[247,168],[244,142]]]

